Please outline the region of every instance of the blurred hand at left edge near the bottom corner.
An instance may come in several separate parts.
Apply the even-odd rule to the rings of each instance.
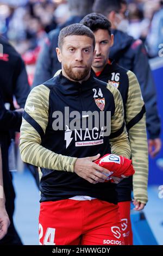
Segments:
[[[5,210],[5,206],[0,206],[0,240],[7,234],[10,225],[9,216]]]

